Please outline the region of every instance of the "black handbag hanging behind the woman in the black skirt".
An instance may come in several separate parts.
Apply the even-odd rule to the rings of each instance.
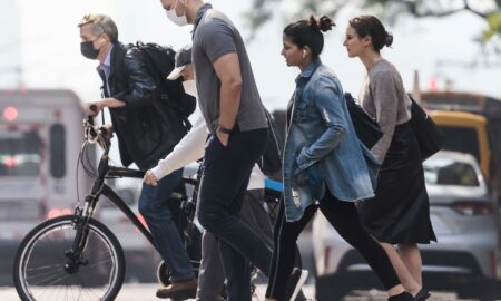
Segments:
[[[421,151],[421,159],[425,161],[443,147],[443,133],[433,119],[411,97],[411,126]]]

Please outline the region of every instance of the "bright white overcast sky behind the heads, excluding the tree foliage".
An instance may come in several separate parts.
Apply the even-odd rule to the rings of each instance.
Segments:
[[[17,74],[10,70],[12,64],[20,62],[26,87],[70,88],[82,101],[99,97],[96,61],[82,58],[79,52],[77,23],[89,12],[110,14],[125,42],[156,41],[179,48],[190,41],[190,27],[178,28],[170,23],[159,0],[0,0],[0,3],[2,87],[17,82]],[[214,0],[212,3],[228,14],[247,36],[242,13],[248,9],[249,1]],[[357,59],[347,58],[342,42],[347,20],[356,13],[358,11],[347,9],[336,17],[337,28],[325,33],[322,55],[324,62],[338,75],[344,89],[355,95],[364,69]],[[267,23],[247,46],[262,98],[269,108],[285,106],[297,75],[297,69],[287,68],[279,55],[283,27],[281,20]],[[450,65],[471,61],[479,56],[472,39],[483,27],[483,21],[470,13],[419,21],[409,19],[399,22],[397,28],[387,28],[394,33],[394,43],[383,51],[383,56],[400,69],[407,89],[412,89],[413,72],[418,69],[422,89],[428,88],[431,78],[438,77],[439,87],[450,79],[454,89],[501,97],[501,85],[494,84],[498,81],[494,79],[501,77],[501,66],[463,68]]]

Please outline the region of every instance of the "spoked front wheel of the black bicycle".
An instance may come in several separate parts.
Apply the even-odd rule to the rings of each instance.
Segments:
[[[125,275],[124,251],[108,227],[90,220],[86,247],[68,269],[77,229],[73,215],[48,220],[21,242],[13,281],[23,301],[114,300]]]

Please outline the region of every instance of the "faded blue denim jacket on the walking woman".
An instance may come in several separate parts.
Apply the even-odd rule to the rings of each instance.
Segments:
[[[296,78],[284,151],[286,220],[299,220],[325,185],[342,201],[373,197],[379,167],[356,137],[340,80],[316,58]]]

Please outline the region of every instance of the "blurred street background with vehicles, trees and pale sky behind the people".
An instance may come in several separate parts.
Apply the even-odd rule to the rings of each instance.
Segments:
[[[279,55],[283,28],[311,14],[332,17],[337,26],[325,33],[322,59],[335,70],[345,91],[356,96],[365,70],[342,46],[347,21],[360,13],[384,21],[394,42],[382,55],[397,67],[407,91],[421,99],[446,134],[449,152],[426,167],[432,222],[440,241],[423,252],[424,264],[430,263],[424,268],[430,284],[465,297],[501,299],[491,290],[501,279],[501,1],[210,2],[246,38],[262,99],[282,126],[298,74]],[[70,213],[89,185],[75,172],[82,139],[80,107],[100,98],[101,82],[96,61],[80,55],[79,20],[87,13],[110,14],[120,41],[153,41],[175,49],[190,42],[191,29],[168,21],[158,0],[0,0],[0,285],[9,285],[12,258],[23,235],[45,219]],[[120,162],[117,148],[111,153]],[[469,179],[458,179],[465,174]],[[116,183],[132,208],[139,185],[140,181]],[[105,215],[121,221],[109,208]],[[131,225],[124,226],[118,235],[124,234],[128,260],[138,266],[129,269],[128,281],[155,281],[158,256],[141,236],[130,236],[136,234]],[[356,273],[366,270],[335,235],[318,215],[299,241],[317,299],[332,300],[322,295],[332,295],[334,289],[344,294],[377,288],[371,279],[363,288],[330,285],[331,276],[355,272],[358,278]],[[144,262],[145,258],[155,263]],[[452,281],[458,278],[459,282]],[[487,285],[489,294],[474,295],[478,290],[471,288],[479,283]]]

